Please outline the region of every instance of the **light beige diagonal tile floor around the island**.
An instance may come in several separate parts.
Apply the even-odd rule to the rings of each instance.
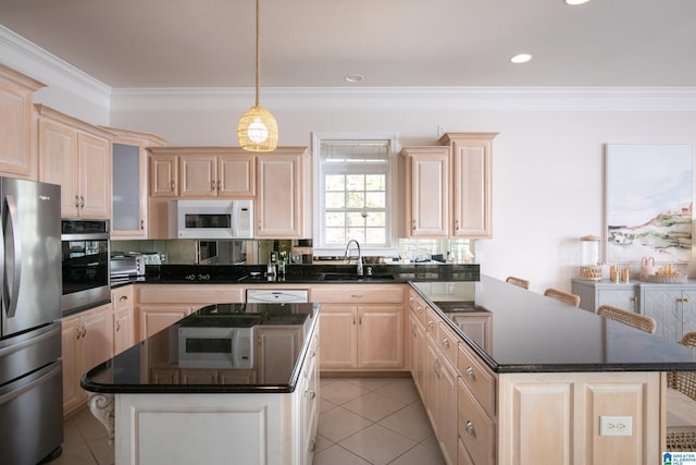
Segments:
[[[51,465],[112,465],[113,444],[89,409],[64,421]],[[410,378],[322,378],[314,465],[440,465],[443,455]],[[252,464],[249,464],[252,465]]]

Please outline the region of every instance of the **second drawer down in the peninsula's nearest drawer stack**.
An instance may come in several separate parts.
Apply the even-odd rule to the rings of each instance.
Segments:
[[[459,418],[457,430],[471,461],[476,465],[495,463],[496,424],[478,406],[473,395],[459,381]]]

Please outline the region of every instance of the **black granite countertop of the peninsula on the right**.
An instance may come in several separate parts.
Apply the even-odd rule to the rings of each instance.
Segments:
[[[453,314],[434,306],[496,372],[696,371],[696,350],[676,342],[494,278],[483,276],[474,286],[467,304],[490,315],[492,340],[484,346],[449,318]]]

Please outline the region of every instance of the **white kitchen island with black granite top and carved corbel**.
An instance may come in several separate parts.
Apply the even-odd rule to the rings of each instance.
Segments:
[[[82,379],[117,464],[309,464],[319,305],[217,304]]]

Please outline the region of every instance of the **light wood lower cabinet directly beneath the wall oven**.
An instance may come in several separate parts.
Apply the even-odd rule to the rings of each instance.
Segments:
[[[63,415],[69,415],[86,405],[87,392],[79,386],[82,376],[112,356],[111,304],[66,317],[61,327]]]

